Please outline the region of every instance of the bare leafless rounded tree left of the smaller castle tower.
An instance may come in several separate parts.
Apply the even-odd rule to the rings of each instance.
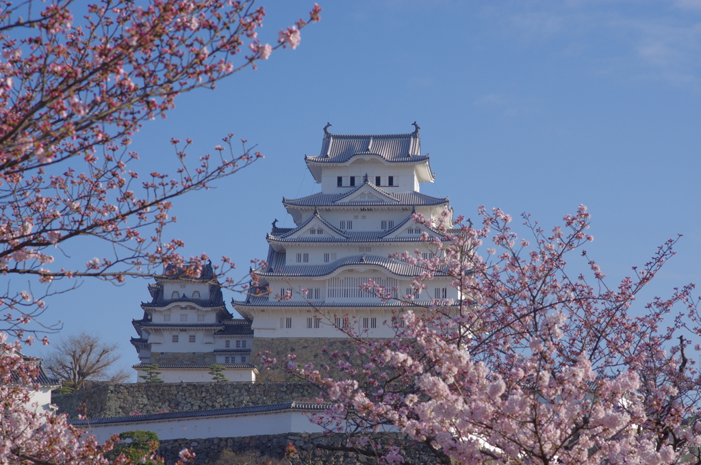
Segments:
[[[86,381],[125,382],[131,373],[125,367],[115,369],[120,359],[118,347],[116,342],[80,331],[53,344],[44,363],[51,375],[73,390],[83,389]]]

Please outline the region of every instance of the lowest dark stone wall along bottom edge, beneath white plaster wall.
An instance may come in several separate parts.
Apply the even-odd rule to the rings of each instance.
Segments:
[[[428,447],[394,433],[374,434],[372,439],[377,443],[397,445],[404,457],[404,464],[437,464]],[[297,447],[297,455],[287,459],[290,465],[355,465],[377,464],[374,457],[365,457],[355,452],[334,452],[316,447],[317,444],[341,444],[337,436],[327,436],[323,433],[276,434],[266,436],[248,436],[245,438],[207,438],[207,439],[172,439],[161,441],[158,455],[165,459],[165,465],[172,465],[178,459],[178,453],[188,447],[197,454],[193,465],[213,464],[219,453],[224,449],[233,452],[268,456],[280,459],[284,456],[287,443]],[[244,463],[241,461],[240,463]],[[261,461],[260,463],[266,463]],[[235,465],[233,463],[228,465]]]

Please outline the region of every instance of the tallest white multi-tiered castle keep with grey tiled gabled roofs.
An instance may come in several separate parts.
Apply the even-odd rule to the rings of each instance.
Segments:
[[[397,314],[401,303],[382,303],[360,286],[372,279],[402,295],[414,293],[411,282],[421,270],[390,255],[418,249],[427,257],[422,233],[442,235],[417,225],[411,215],[438,218],[451,211],[448,197],[419,191],[421,183],[433,182],[435,176],[428,155],[421,153],[416,123],[410,134],[383,135],[332,134],[329,126],[320,155],[305,158],[321,192],[283,198],[296,226],[278,228],[273,222],[266,237],[267,268],[256,272],[260,287],[246,300],[232,301],[252,324],[254,363],[264,350],[312,361],[322,347],[341,349],[347,343],[339,331],[344,316],[368,338],[393,336],[393,326],[403,324]],[[451,221],[451,215],[446,219]],[[457,300],[450,283],[449,277],[435,277],[415,298]],[[273,373],[266,379],[281,376]]]

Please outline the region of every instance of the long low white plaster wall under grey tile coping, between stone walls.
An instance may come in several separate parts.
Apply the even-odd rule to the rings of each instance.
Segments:
[[[257,415],[178,418],[160,422],[129,422],[80,426],[104,442],[113,434],[141,429],[154,431],[158,439],[236,438],[263,434],[320,433],[304,412],[271,412]]]

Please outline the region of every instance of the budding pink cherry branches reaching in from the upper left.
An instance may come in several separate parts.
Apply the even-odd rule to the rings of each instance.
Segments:
[[[25,283],[15,279],[0,292],[0,331],[15,335],[46,297],[75,286],[57,289],[57,280],[119,283],[165,264],[198,276],[207,257],[185,258],[182,241],[163,239],[176,220],[172,199],[262,155],[229,134],[215,155],[191,160],[191,141],[172,139],[172,172],[144,176],[129,137],[144,120],[165,117],[179,93],[215,88],[277,48],[296,48],[307,25],[281,30],[271,46],[257,39],[265,12],[254,0],[99,0],[86,11],[71,8],[72,0],[0,6],[0,271]],[[318,21],[320,10],[314,5],[308,21]],[[88,237],[109,245],[109,255],[52,265],[55,251]],[[231,268],[222,258],[219,275]]]

